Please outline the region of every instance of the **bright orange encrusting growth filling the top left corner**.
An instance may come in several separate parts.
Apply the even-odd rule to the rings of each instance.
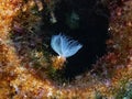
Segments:
[[[21,8],[21,0],[0,0],[0,38],[6,40],[11,30],[12,19]]]

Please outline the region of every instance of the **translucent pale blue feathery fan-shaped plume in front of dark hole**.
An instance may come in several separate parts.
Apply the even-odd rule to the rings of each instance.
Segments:
[[[75,55],[82,47],[77,41],[63,34],[53,35],[51,46],[61,57],[65,58]]]

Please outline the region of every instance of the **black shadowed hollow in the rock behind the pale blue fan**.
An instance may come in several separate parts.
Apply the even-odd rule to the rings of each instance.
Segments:
[[[67,58],[66,78],[90,70],[99,57],[107,53],[109,9],[100,0],[62,0],[55,8],[57,22],[51,24],[53,34],[64,33],[84,46]]]

